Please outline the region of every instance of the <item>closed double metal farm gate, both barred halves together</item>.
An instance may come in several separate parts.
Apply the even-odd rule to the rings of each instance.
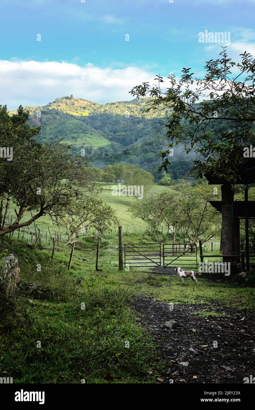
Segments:
[[[163,244],[161,252],[160,242],[147,244],[124,244],[124,263],[133,268],[145,268],[163,266],[164,268],[197,269],[196,245],[185,244]],[[163,261],[163,263],[161,263]]]

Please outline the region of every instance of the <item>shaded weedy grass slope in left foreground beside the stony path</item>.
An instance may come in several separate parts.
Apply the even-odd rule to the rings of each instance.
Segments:
[[[14,383],[149,383],[160,358],[135,323],[124,286],[106,285],[95,272],[68,272],[69,248],[56,253],[18,241],[22,287],[14,305],[1,306],[0,376]],[[37,271],[38,264],[41,271]],[[83,273],[83,272],[82,272]],[[22,290],[26,282],[36,290]],[[5,373],[6,372],[6,373]]]

